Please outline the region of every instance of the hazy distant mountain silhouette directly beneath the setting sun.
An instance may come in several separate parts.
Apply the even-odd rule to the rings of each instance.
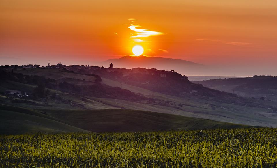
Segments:
[[[197,64],[194,62],[182,60],[182,59],[172,59],[163,57],[132,57],[126,55],[118,59],[109,59],[104,61],[105,65],[113,63],[115,68],[157,68],[162,70],[175,70],[178,73],[186,75],[197,75],[202,74],[203,71],[207,70],[209,67],[203,64]]]

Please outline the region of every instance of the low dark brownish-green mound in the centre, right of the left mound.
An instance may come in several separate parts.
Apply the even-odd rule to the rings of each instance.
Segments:
[[[65,123],[93,132],[202,130],[239,128],[243,125],[200,118],[130,109],[106,110],[44,110]]]

